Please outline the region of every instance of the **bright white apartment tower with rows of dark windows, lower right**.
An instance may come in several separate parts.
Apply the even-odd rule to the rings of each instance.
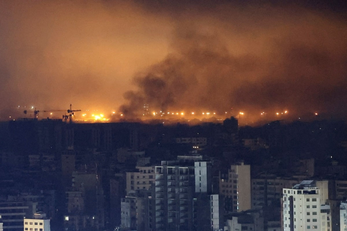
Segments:
[[[330,206],[321,205],[320,195],[313,180],[283,188],[283,230],[330,231]]]

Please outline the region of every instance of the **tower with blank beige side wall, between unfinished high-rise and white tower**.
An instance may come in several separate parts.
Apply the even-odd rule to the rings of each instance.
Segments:
[[[226,210],[240,212],[251,209],[251,166],[240,162],[219,175],[219,194],[226,197]]]

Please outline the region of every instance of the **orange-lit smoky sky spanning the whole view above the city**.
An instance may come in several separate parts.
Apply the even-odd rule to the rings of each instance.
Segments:
[[[2,2],[1,113],[16,105],[345,114],[347,24],[295,3]]]

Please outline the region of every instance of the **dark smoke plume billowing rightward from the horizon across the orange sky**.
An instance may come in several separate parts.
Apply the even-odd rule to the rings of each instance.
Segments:
[[[188,112],[234,108],[253,121],[264,110],[346,113],[345,19],[298,6],[213,11],[219,14],[182,17],[173,52],[136,75],[123,112],[139,113],[145,103]]]

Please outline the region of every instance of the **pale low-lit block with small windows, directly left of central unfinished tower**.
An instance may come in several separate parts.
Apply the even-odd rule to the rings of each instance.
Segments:
[[[130,192],[130,190],[140,190],[151,189],[152,184],[154,184],[155,174],[154,167],[136,167],[136,172],[127,172],[126,180],[127,187],[126,192]]]

